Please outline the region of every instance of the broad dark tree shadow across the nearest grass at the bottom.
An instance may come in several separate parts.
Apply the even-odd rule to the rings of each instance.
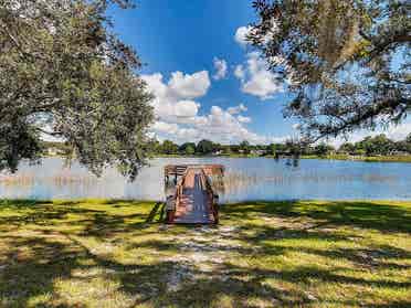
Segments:
[[[178,262],[159,261],[149,265],[122,264],[113,258],[94,254],[89,248],[75,237],[67,236],[66,243],[57,243],[50,240],[18,240],[13,238],[18,246],[30,247],[30,257],[20,257],[18,253],[10,252],[9,259],[14,259],[2,273],[1,280],[9,282],[0,287],[0,297],[7,298],[2,307],[28,307],[29,302],[45,294],[52,294],[59,298],[62,294],[55,287],[55,280],[70,279],[74,283],[84,284],[86,293],[91,276],[82,276],[78,273],[98,268],[105,279],[119,282],[122,291],[134,298],[128,307],[141,304],[150,304],[152,307],[173,305],[175,307],[208,307],[210,302],[219,302],[222,295],[235,299],[235,307],[257,307],[245,304],[246,298],[259,298],[275,305],[305,306],[313,299],[307,297],[303,288],[275,288],[264,282],[278,279],[284,283],[296,285],[309,285],[313,279],[317,284],[352,285],[370,288],[410,288],[411,283],[398,283],[384,279],[365,279],[336,274],[339,269],[323,269],[316,266],[299,266],[295,269],[261,269],[241,267],[230,263],[221,264],[217,273],[209,273],[198,268],[191,268],[190,275],[185,276],[183,268]],[[156,244],[157,245],[157,244]],[[167,249],[171,249],[169,244]],[[181,275],[178,289],[169,290],[170,277]],[[190,278],[196,276],[197,278]],[[12,283],[11,283],[12,282]],[[109,290],[106,290],[106,296]],[[89,294],[87,296],[93,296]],[[14,301],[18,299],[18,305]],[[82,305],[84,298],[73,298],[71,302],[55,301],[45,307],[86,307]],[[1,302],[1,301],[0,301]],[[8,305],[8,302],[10,305]],[[354,305],[341,299],[338,305]],[[408,301],[397,301],[394,305],[381,305],[379,307],[409,307]],[[43,307],[43,306],[42,306]],[[218,305],[215,306],[218,307]],[[372,307],[375,307],[372,305]]]

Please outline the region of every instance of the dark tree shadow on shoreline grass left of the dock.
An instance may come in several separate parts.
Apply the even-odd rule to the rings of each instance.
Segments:
[[[160,203],[156,203],[149,215],[147,210],[133,214],[123,214],[123,209],[138,208],[139,202],[136,201],[102,201],[87,206],[87,201],[64,201],[53,203],[50,201],[1,201],[0,212],[4,210],[12,211],[13,214],[0,216],[0,227],[6,225],[24,226],[34,224],[39,226],[52,226],[60,224],[78,225],[85,236],[110,236],[118,232],[128,232],[148,226],[148,223],[154,222],[154,216],[158,211]],[[107,205],[113,209],[119,209],[118,214],[107,212]],[[146,205],[148,209],[149,204]],[[70,221],[70,215],[76,215],[73,222]]]

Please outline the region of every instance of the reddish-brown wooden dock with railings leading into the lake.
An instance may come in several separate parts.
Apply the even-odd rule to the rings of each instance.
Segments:
[[[183,169],[165,168],[165,177]],[[176,191],[167,198],[167,222],[176,224],[217,224],[219,222],[218,195],[210,183],[211,173],[222,174],[222,166],[186,166],[176,184]],[[167,179],[166,179],[167,180]]]

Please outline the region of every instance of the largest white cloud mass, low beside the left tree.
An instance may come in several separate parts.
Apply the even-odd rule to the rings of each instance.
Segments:
[[[247,110],[244,104],[222,109],[212,106],[209,113],[200,115],[198,98],[205,95],[209,87],[209,74],[205,71],[194,74],[175,72],[170,81],[164,81],[159,73],[144,75],[148,88],[156,98],[152,102],[157,121],[151,131],[160,139],[171,139],[178,144],[210,139],[221,144],[234,144],[249,140],[252,144],[266,144],[285,138],[260,136],[244,125],[252,119],[240,115]],[[196,99],[196,100],[194,100]]]

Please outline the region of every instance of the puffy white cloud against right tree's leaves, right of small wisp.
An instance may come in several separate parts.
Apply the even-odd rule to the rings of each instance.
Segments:
[[[241,91],[260,99],[272,98],[274,94],[284,92],[284,85],[277,75],[267,70],[266,63],[257,52],[247,54],[246,68],[238,65],[234,75],[241,82]]]

